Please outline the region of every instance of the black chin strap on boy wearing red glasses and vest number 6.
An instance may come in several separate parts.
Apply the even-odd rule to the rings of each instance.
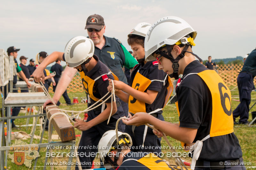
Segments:
[[[175,78],[175,80],[177,80],[179,78],[179,74],[178,74],[178,71],[179,71],[179,60],[181,58],[183,58],[185,56],[185,53],[191,53],[193,54],[194,56],[196,56],[196,58],[198,58],[198,60],[201,62],[202,59],[199,58],[196,54],[192,53],[192,52],[188,52],[186,51],[189,47],[189,45],[186,45],[185,48],[182,50],[182,52],[180,53],[180,55],[178,55],[175,59],[173,58],[172,54],[171,54],[171,51],[172,51],[172,48],[171,46],[166,46],[167,47],[167,50],[168,50],[168,53],[169,55],[166,54],[166,51],[160,51],[159,49],[157,50],[157,53],[160,54],[161,56],[171,60],[172,62],[172,69],[173,69],[173,73],[172,74],[169,74],[169,76],[171,78]]]

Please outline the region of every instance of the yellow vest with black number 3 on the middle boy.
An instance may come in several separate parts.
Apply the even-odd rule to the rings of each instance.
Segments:
[[[165,102],[164,102],[164,106],[165,106],[167,101],[171,97],[172,90],[173,90],[171,78],[168,75],[166,75],[164,81],[163,80],[149,80],[148,78],[144,77],[139,72],[137,72],[133,79],[133,82],[132,82],[132,88],[139,90],[140,92],[144,92],[148,88],[148,86],[151,84],[152,81],[160,81],[160,82],[163,82],[163,84],[165,85],[164,82],[165,82],[166,78],[168,78],[169,86],[167,87],[167,95],[165,96]],[[134,97],[132,97],[131,95],[129,96],[128,106],[129,106],[129,112],[132,112],[133,114],[135,114],[137,112],[146,112],[145,102],[137,100]],[[160,110],[162,110],[163,108],[161,108]]]

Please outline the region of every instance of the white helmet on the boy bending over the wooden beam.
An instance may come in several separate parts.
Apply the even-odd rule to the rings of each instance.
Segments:
[[[64,57],[68,67],[76,67],[91,58],[93,53],[93,41],[84,36],[77,36],[68,41]]]

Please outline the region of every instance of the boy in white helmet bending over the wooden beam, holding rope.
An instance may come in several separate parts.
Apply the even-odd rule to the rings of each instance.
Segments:
[[[91,39],[84,36],[72,38],[67,43],[64,53],[53,52],[51,55],[47,56],[36,68],[33,75],[37,74],[36,72],[40,72],[40,70],[43,70],[45,66],[55,62],[56,60],[65,61],[68,67],[76,68],[80,72],[82,84],[84,85],[85,92],[88,95],[88,107],[92,106],[108,93],[108,78],[114,79],[114,75],[105,64],[100,62],[98,56],[94,55],[94,45]],[[34,77],[36,81],[40,80],[40,77]],[[70,78],[73,77],[74,75],[70,75]],[[71,80],[69,79],[67,81]],[[61,94],[59,94],[59,96],[60,95]],[[109,97],[109,95],[110,93],[103,99],[103,101]],[[59,99],[60,98],[55,98],[53,101],[57,103]],[[44,103],[44,106],[48,103],[50,102],[47,100]],[[117,97],[116,103],[113,102],[112,116],[107,124],[110,112],[111,98],[103,103],[103,105],[88,111],[88,118],[86,122],[83,120],[76,120],[74,123],[74,127],[76,129],[83,131],[77,152],[84,153],[84,155],[78,154],[80,162],[82,165],[86,166],[84,169],[90,169],[92,166],[92,161],[95,158],[95,155],[91,155],[90,153],[96,153],[98,151],[97,144],[99,143],[102,135],[107,130],[115,129],[117,119],[124,116],[124,111]],[[123,122],[121,122],[118,128],[119,131],[124,131]],[[78,169],[77,166],[76,169]]]

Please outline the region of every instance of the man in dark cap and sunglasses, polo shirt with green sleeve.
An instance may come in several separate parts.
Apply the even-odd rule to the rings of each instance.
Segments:
[[[122,67],[125,66],[128,69],[133,69],[138,62],[119,40],[103,35],[106,29],[104,18],[97,14],[89,16],[86,21],[85,29],[87,29],[88,36],[94,43],[94,54],[99,57],[102,63],[107,65],[107,67],[119,78],[120,81],[128,84]],[[42,69],[43,68],[37,69],[33,73],[34,78],[37,79],[44,77]],[[59,80],[59,85],[56,88],[53,99],[60,99],[61,94],[63,94],[65,89],[68,87],[72,78],[76,74],[76,71],[76,69],[66,67]],[[47,102],[48,101],[49,100],[47,100]],[[128,115],[128,104],[122,100],[120,100],[120,102],[125,115]]]

